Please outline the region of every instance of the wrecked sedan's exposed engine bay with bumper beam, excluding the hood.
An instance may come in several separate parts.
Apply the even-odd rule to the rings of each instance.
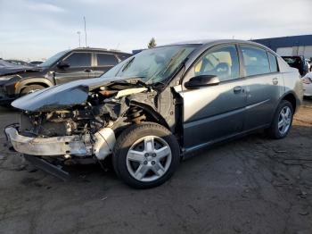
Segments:
[[[43,111],[24,111],[21,113],[19,133],[14,133],[20,134],[19,137],[23,139],[12,142],[12,145],[26,155],[29,150],[31,155],[70,160],[91,156],[95,160],[103,160],[111,155],[119,133],[130,124],[157,121],[166,127],[175,127],[176,105],[168,101],[173,100],[172,97],[167,97],[172,93],[168,89],[161,95],[163,98],[156,90],[141,84],[113,82],[89,90],[82,104],[62,109],[50,105],[52,111],[46,108]],[[161,113],[169,121],[164,121]],[[52,139],[57,143],[52,143]],[[29,141],[41,145],[37,148],[21,148],[25,142],[29,145]]]

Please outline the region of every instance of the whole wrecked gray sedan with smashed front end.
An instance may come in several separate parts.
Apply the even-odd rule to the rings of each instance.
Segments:
[[[14,101],[12,147],[61,178],[62,165],[105,163],[134,188],[168,180],[181,158],[264,129],[284,138],[302,98],[300,74],[266,46],[241,40],[144,50],[98,79]]]

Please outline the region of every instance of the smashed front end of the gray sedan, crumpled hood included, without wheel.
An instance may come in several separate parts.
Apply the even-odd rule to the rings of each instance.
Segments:
[[[119,133],[130,124],[151,119],[167,124],[156,111],[160,98],[152,88],[129,82],[78,88],[82,96],[87,94],[86,100],[72,96],[72,104],[68,100],[69,90],[58,92],[67,94],[66,105],[60,104],[62,96],[51,99],[49,93],[53,93],[53,88],[18,99],[12,105],[23,110],[20,124],[5,129],[15,151],[26,155],[26,159],[41,169],[54,171],[54,175],[66,174],[60,173],[60,165],[103,163],[111,155]],[[75,91],[76,95],[79,92]],[[40,96],[45,104],[29,105],[34,97],[38,100]],[[172,114],[170,107],[164,111]]]

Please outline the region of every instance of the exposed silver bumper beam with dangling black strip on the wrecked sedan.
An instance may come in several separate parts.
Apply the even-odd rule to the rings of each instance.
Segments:
[[[14,150],[21,153],[29,163],[64,181],[70,180],[70,173],[63,170],[64,164],[51,163],[47,158],[52,159],[53,156],[59,155],[95,155],[99,160],[103,160],[107,155],[111,155],[116,142],[115,134],[109,128],[94,134],[94,146],[87,145],[79,136],[29,138],[19,134],[17,128],[12,126],[5,129],[5,134]],[[86,160],[86,157],[80,158]]]

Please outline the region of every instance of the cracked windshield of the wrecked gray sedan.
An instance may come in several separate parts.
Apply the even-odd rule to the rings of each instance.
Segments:
[[[119,63],[102,77],[139,78],[149,84],[163,82],[177,70],[194,48],[195,45],[184,45],[144,50]]]

